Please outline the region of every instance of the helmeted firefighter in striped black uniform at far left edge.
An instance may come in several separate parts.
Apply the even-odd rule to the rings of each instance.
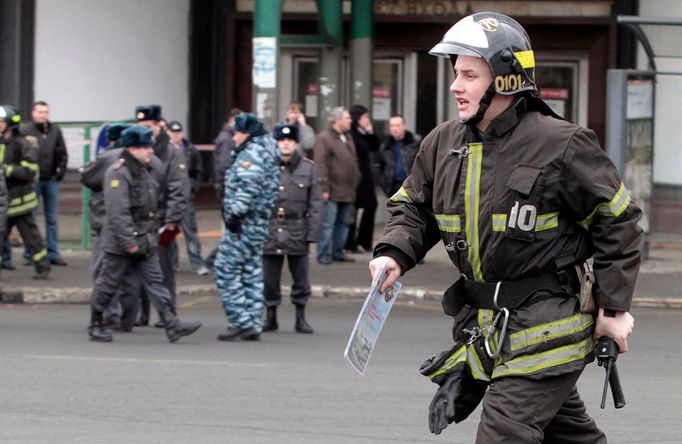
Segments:
[[[4,242],[9,242],[7,236],[16,226],[31,253],[36,268],[34,279],[45,279],[50,273],[50,263],[33,218],[33,209],[38,206],[33,187],[38,176],[38,141],[33,139],[32,143],[19,134],[20,122],[21,115],[12,105],[0,105],[0,162],[9,192]]]

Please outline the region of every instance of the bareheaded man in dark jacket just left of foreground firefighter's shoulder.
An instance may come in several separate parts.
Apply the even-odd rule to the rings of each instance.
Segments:
[[[405,119],[399,114],[388,119],[388,131],[391,135],[379,148],[379,163],[381,188],[386,197],[390,198],[412,171],[422,138],[405,128]]]

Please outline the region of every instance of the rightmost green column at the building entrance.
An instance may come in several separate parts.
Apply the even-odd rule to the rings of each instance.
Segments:
[[[372,115],[374,0],[353,0],[351,8],[351,100],[353,105],[366,106]]]

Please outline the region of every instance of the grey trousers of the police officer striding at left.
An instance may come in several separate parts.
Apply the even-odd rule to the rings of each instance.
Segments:
[[[173,311],[170,293],[163,285],[163,275],[156,253],[147,257],[104,253],[92,298],[95,310],[104,312],[109,307],[129,271],[137,274],[145,293],[159,313]]]

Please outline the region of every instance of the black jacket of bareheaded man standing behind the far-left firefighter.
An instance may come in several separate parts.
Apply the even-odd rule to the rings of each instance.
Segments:
[[[27,122],[21,125],[21,133],[33,136],[38,141],[40,180],[62,180],[69,161],[62,130],[49,121],[44,125]]]

